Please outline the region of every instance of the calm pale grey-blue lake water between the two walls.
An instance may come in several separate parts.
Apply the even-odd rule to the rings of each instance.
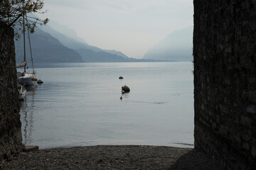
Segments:
[[[69,63],[37,68],[21,101],[23,143],[193,147],[191,62]],[[118,79],[119,76],[124,79]],[[121,93],[126,84],[131,91]],[[120,100],[122,96],[122,100]]]

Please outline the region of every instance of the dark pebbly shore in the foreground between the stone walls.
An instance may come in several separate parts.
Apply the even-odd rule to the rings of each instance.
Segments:
[[[195,169],[219,170],[205,154],[191,148],[95,146],[23,152],[3,169]]]

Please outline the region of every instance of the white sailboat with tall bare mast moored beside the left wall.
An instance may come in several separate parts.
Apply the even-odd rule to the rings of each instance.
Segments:
[[[23,15],[23,30],[25,30],[25,18]],[[29,30],[28,30],[28,42],[29,42],[29,47],[30,47],[30,52],[31,52],[31,62],[32,62],[32,68],[33,72],[29,73],[26,72],[26,36],[25,36],[25,31],[23,31],[23,45],[24,45],[24,60],[20,64],[16,64],[16,68],[24,67],[23,72],[17,72],[17,78],[18,78],[18,84],[21,84],[22,86],[31,86],[35,84],[36,79],[36,72],[33,68],[33,57],[32,57],[32,50],[31,50],[31,41],[30,41],[30,35],[29,35]]]

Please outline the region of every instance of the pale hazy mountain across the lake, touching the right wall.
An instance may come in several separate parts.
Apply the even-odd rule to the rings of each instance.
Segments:
[[[167,61],[191,61],[193,47],[193,26],[175,30],[164,40],[151,47],[144,59]]]

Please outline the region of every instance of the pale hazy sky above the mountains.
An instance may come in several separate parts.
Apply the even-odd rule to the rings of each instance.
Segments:
[[[193,0],[44,0],[46,17],[89,45],[143,55],[172,31],[193,26]]]

